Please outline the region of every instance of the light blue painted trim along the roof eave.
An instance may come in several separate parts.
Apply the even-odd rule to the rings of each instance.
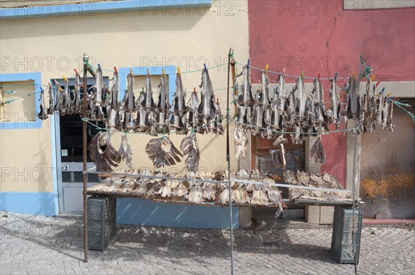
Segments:
[[[19,2],[16,2],[19,3]],[[37,6],[28,8],[1,8],[0,19],[17,19],[30,17],[54,17],[67,15],[93,16],[100,12],[127,12],[131,10],[172,10],[172,15],[186,14],[189,8],[196,8],[201,15],[205,8],[212,7],[212,0],[125,0],[98,3],[79,3],[58,6]],[[180,10],[176,12],[176,9]]]

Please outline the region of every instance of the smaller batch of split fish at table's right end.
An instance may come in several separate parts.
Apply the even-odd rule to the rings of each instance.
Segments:
[[[329,173],[306,173],[304,171],[284,171],[283,179],[286,184],[302,187],[316,187],[322,189],[343,189],[340,183]],[[288,196],[291,200],[351,200],[351,193],[339,191],[322,191],[312,189],[289,188]]]

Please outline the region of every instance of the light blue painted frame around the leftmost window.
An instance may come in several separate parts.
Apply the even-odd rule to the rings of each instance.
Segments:
[[[0,74],[0,82],[21,82],[33,80],[35,84],[42,82],[41,73],[2,73]],[[35,85],[35,92],[40,91],[39,85]],[[12,103],[11,103],[12,104]],[[7,104],[5,105],[7,108]],[[6,129],[41,129],[42,120],[39,120],[37,113],[40,110],[40,93],[35,93],[35,121],[28,122],[0,122],[0,130]]]

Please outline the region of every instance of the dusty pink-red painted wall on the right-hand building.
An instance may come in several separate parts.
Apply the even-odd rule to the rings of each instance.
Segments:
[[[374,68],[376,81],[415,80],[415,8],[342,10],[343,0],[248,1],[250,64],[306,77],[350,76],[360,54]],[[270,75],[272,80],[276,76]],[[252,82],[259,71],[252,72]],[[287,79],[295,82],[295,79]],[[342,85],[343,83],[340,83]],[[329,82],[323,83],[329,89]],[[346,138],[322,137],[323,171],[345,182]]]

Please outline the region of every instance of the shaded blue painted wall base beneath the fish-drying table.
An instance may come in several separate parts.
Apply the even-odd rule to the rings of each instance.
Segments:
[[[232,208],[234,229],[239,209]],[[138,198],[117,198],[117,222],[156,227],[230,228],[229,207],[175,205]]]

